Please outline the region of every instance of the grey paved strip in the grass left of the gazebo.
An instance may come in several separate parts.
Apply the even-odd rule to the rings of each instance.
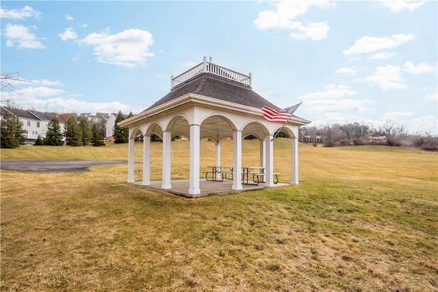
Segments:
[[[34,172],[83,172],[99,165],[127,164],[123,160],[1,160],[0,169]]]

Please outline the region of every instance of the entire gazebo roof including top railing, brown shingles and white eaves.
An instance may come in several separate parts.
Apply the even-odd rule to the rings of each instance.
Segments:
[[[138,125],[144,119],[157,117],[159,114],[166,113],[185,104],[214,105],[222,110],[231,110],[233,112],[240,112],[240,114],[250,113],[257,117],[262,116],[261,108],[263,106],[268,106],[274,110],[281,110],[281,108],[252,90],[251,73],[244,75],[227,69],[212,63],[211,58],[207,62],[207,59],[204,57],[203,62],[188,71],[181,73],[177,77],[172,76],[171,86],[170,93],[139,114],[120,121],[119,125],[121,127]],[[218,121],[210,120],[209,123],[214,125],[227,123],[222,118],[218,119]],[[298,125],[310,123],[310,121],[294,115],[290,122]],[[184,123],[187,122],[185,121]],[[203,127],[203,130],[205,130],[205,127]],[[229,130],[231,131],[231,128]]]

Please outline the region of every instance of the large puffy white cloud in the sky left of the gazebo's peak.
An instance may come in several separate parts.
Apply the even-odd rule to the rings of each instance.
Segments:
[[[126,29],[118,34],[105,29],[101,33],[89,34],[79,43],[92,45],[99,62],[128,68],[145,66],[146,58],[154,56],[149,51],[149,46],[153,45],[152,34],[140,29]]]

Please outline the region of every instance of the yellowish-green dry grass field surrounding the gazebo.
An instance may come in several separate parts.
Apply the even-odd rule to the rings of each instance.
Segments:
[[[258,142],[244,143],[243,163],[257,162]],[[187,149],[172,143],[173,179],[187,178]],[[201,149],[203,169],[214,145]],[[290,142],[274,149],[287,182]],[[299,157],[298,186],[198,199],[127,184],[127,165],[2,170],[0,290],[438,291],[437,154],[300,144]],[[127,160],[127,145],[1,149],[2,160],[67,158]]]

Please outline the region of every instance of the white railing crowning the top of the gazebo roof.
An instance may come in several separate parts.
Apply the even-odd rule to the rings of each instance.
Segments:
[[[219,77],[222,77],[227,80],[231,80],[233,82],[237,82],[239,84],[243,84],[245,86],[251,87],[251,73],[249,75],[244,75],[242,73],[238,73],[236,71],[224,68],[222,66],[213,64],[211,62],[207,62],[207,58],[204,57],[204,61],[194,66],[192,69],[185,71],[184,73],[178,75],[177,77],[172,76],[171,88],[177,87],[188,80],[200,75],[202,73],[210,73]]]

